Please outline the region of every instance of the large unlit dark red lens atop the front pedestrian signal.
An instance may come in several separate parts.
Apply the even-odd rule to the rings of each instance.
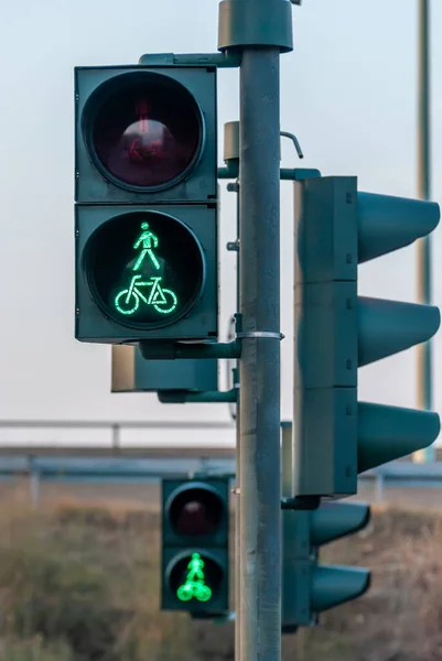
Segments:
[[[172,185],[200,156],[200,108],[172,78],[148,72],[120,76],[98,88],[93,108],[91,152],[104,173],[126,187]]]

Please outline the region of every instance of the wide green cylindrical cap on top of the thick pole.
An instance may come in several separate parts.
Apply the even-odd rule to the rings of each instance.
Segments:
[[[293,50],[292,12],[288,1],[223,0],[218,15],[218,50],[273,46]]]

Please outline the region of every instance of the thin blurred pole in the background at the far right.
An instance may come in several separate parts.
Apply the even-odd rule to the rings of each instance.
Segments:
[[[418,195],[430,199],[430,0],[419,1],[419,126],[418,126]],[[431,304],[431,237],[417,245],[418,303]],[[431,344],[418,346],[417,399],[420,409],[432,409]],[[418,463],[434,462],[434,447],[414,453]]]

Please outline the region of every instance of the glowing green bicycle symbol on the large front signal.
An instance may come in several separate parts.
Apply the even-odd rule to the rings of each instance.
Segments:
[[[140,301],[152,305],[161,314],[170,314],[176,308],[177,297],[172,290],[163,289],[161,278],[152,275],[149,281],[142,282],[142,275],[133,275],[129,289],[119,292],[115,299],[115,306],[120,314],[134,314],[140,306]],[[149,296],[144,296],[140,288],[152,288]]]

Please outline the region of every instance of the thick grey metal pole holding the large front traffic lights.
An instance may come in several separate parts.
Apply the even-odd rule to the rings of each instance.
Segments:
[[[279,57],[240,67],[241,661],[281,658]]]

